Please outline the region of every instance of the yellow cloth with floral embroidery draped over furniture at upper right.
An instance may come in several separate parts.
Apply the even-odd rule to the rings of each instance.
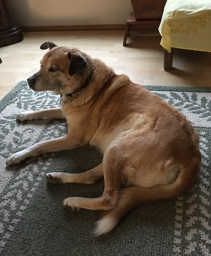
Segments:
[[[158,28],[160,45],[211,52],[211,0],[167,0]]]

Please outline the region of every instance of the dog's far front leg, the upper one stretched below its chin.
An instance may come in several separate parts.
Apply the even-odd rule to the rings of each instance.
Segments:
[[[65,117],[62,114],[61,108],[50,108],[37,111],[24,111],[17,115],[17,120],[33,120],[33,119],[42,119],[42,118],[61,118]]]

